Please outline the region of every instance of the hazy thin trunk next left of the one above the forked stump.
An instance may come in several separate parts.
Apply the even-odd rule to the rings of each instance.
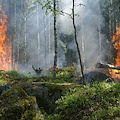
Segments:
[[[26,45],[27,45],[27,36],[26,36],[26,4],[24,1],[24,65],[26,66]]]

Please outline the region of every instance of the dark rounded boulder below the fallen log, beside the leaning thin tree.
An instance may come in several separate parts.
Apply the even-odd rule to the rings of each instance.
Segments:
[[[86,84],[93,83],[93,82],[103,82],[110,77],[106,76],[104,73],[98,71],[91,71],[84,75],[84,79]],[[110,78],[112,79],[112,78]],[[113,80],[114,81],[114,80]],[[77,81],[79,84],[82,84],[82,79]]]

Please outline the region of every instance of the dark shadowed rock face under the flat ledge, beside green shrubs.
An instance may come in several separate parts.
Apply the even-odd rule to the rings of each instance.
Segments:
[[[34,83],[23,89],[30,96],[35,96],[39,108],[44,109],[48,114],[55,110],[55,101],[61,97],[62,87],[55,84]]]

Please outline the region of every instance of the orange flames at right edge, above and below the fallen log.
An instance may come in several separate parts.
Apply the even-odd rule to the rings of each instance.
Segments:
[[[120,23],[119,23],[120,26]],[[115,58],[116,66],[120,66],[120,27],[116,28],[116,33],[113,35],[112,42],[114,42],[114,48],[117,50],[117,57]],[[109,70],[111,77],[120,79],[120,70]]]

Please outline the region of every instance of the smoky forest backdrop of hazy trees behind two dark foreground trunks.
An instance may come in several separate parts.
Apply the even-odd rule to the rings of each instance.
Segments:
[[[36,0],[1,0],[7,15],[7,37],[11,42],[12,68],[33,72],[31,65],[47,69],[54,61],[54,21],[52,13]],[[77,0],[75,22],[84,68],[97,62],[115,64],[117,51],[112,41],[120,27],[119,0]],[[57,1],[57,8],[71,13],[72,1]],[[67,15],[57,15],[58,66],[78,64],[72,20]]]

